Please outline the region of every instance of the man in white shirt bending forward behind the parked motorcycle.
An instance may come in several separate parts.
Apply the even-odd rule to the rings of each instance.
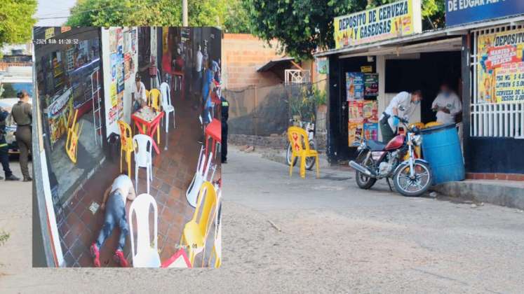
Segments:
[[[388,143],[395,137],[398,123],[398,118],[409,120],[410,116],[415,112],[417,105],[422,100],[422,92],[420,90],[409,92],[400,92],[396,94],[384,113],[380,116],[380,132],[382,132],[382,141]]]

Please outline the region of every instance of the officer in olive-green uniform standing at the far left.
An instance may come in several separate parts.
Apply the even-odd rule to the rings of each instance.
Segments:
[[[22,169],[22,175],[24,181],[32,181],[33,179],[29,175],[29,168],[27,167],[27,160],[29,158],[29,151],[32,148],[32,106],[29,104],[29,94],[26,91],[18,92],[17,104],[11,109],[11,116],[16,123],[16,143],[20,148],[20,169]]]

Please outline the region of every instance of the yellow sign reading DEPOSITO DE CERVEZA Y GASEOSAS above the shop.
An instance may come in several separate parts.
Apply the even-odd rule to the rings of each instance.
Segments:
[[[420,0],[401,0],[335,18],[335,48],[422,31]]]

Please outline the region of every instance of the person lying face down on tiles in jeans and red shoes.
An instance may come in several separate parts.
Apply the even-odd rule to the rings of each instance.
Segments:
[[[123,246],[126,245],[126,237],[129,232],[128,221],[126,218],[126,200],[133,201],[136,198],[133,182],[126,174],[121,174],[114,179],[109,188],[105,190],[104,200],[100,209],[105,211],[104,225],[102,230],[90,247],[93,263],[95,267],[100,267],[100,248],[104,241],[111,235],[116,225],[120,228],[119,246],[114,251],[113,259],[121,267],[127,267],[128,261],[123,256]]]

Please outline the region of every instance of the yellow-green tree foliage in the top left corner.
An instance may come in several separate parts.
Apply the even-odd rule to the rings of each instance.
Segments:
[[[32,15],[36,0],[2,0],[0,5],[0,47],[8,43],[20,44],[31,40]]]

